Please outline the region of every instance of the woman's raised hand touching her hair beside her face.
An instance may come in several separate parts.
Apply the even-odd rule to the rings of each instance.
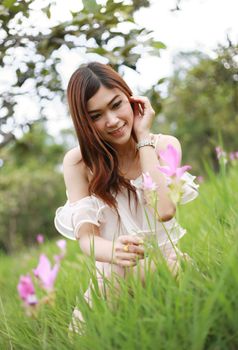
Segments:
[[[137,140],[148,138],[150,128],[155,116],[150,101],[145,96],[131,96],[130,102],[134,104],[134,124],[133,129]]]

